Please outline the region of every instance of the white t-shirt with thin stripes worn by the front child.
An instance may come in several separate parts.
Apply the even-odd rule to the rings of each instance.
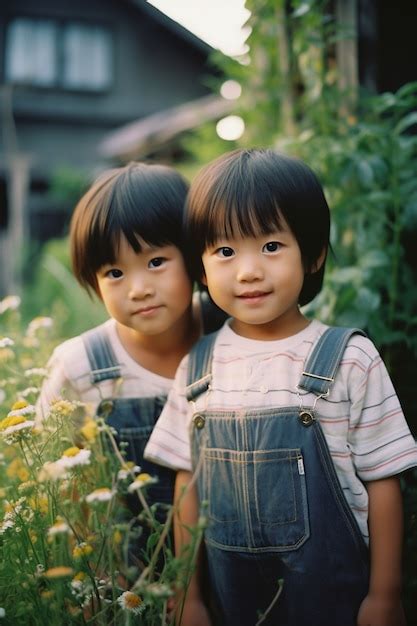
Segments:
[[[191,470],[190,421],[194,412],[249,411],[313,406],[314,394],[299,391],[304,363],[327,326],[313,321],[291,337],[259,341],[237,335],[228,322],[213,351],[210,392],[192,406],[185,397],[188,357],[179,366],[167,404],[145,456],[173,469]],[[417,465],[417,446],[398,397],[373,343],[361,335],[348,342],[320,420],[335,469],[360,529],[368,540],[368,494],[363,483]]]

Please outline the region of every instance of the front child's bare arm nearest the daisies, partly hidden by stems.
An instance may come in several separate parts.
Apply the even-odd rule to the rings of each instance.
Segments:
[[[178,506],[174,519],[175,553],[181,555],[190,543],[188,528],[197,525],[199,506],[197,490],[191,483],[192,474],[180,470],[175,481],[175,505]],[[191,483],[191,484],[190,484]],[[185,491],[184,491],[185,489]],[[177,605],[177,626],[211,626],[211,621],[201,597],[199,585],[199,560],[193,572],[185,596],[181,596]]]

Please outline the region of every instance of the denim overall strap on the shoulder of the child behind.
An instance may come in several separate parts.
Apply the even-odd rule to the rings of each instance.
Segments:
[[[81,337],[90,361],[91,383],[120,378],[121,367],[106,334],[100,328],[92,328],[83,333]]]

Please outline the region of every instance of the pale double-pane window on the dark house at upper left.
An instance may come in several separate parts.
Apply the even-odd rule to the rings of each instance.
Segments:
[[[8,82],[102,91],[112,82],[112,38],[102,26],[18,18],[6,37]]]

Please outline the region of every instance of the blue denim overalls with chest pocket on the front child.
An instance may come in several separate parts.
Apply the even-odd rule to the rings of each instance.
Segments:
[[[194,414],[193,467],[200,506],[208,503],[215,626],[356,624],[368,589],[368,548],[315,413],[319,397],[331,400],[356,332],[330,328],[313,347],[299,382],[316,394],[313,407],[300,395],[299,406]],[[190,354],[189,401],[209,389],[215,337],[203,337]]]

